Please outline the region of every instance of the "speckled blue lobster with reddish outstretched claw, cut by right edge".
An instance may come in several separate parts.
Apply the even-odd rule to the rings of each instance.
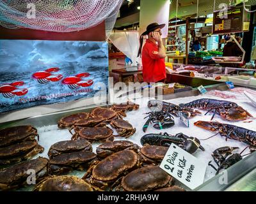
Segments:
[[[212,132],[217,131],[221,136],[226,137],[226,141],[228,138],[230,138],[232,140],[244,142],[250,145],[250,148],[256,147],[256,132],[250,129],[241,128],[230,124],[222,124],[220,122],[207,122],[202,120],[197,121],[194,124],[199,128],[207,129]],[[216,135],[218,135],[218,133]]]

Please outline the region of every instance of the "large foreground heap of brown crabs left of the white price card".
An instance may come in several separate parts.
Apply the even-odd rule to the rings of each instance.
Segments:
[[[119,140],[101,143],[95,154],[88,140],[62,141],[51,146],[49,159],[38,157],[0,170],[0,190],[27,186],[27,173],[33,169],[33,191],[184,191],[158,166],[167,150]],[[85,169],[83,178],[66,175]]]

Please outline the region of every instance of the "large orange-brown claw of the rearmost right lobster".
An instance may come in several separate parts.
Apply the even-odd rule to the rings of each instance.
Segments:
[[[221,112],[220,116],[227,120],[246,120],[248,117],[253,117],[242,107],[230,108],[225,112]]]

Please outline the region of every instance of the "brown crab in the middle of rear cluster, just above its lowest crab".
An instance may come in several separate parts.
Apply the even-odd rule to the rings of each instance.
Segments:
[[[73,135],[72,129],[74,129],[75,133],[77,133],[80,129],[83,128],[93,128],[105,125],[106,122],[102,117],[89,117],[88,119],[78,120],[73,126],[68,129],[68,131]]]

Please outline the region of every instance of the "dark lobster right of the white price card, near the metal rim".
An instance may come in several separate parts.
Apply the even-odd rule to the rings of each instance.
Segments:
[[[238,147],[220,147],[214,150],[214,152],[212,153],[212,157],[215,163],[218,165],[218,168],[211,164],[212,161],[209,161],[208,165],[216,170],[216,175],[243,159],[243,156],[241,156],[241,154],[244,152],[245,149],[240,154],[232,154],[233,150],[235,149],[238,149]],[[225,154],[225,156],[223,156],[223,154]],[[231,156],[229,156],[230,154]],[[245,154],[244,156],[246,155],[247,154]]]

